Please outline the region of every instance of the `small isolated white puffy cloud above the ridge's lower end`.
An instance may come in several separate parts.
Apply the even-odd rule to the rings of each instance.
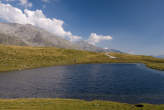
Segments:
[[[100,41],[103,40],[111,40],[112,37],[111,36],[104,36],[104,35],[97,35],[96,33],[91,33],[89,39],[88,39],[88,43],[95,45],[96,43],[99,43]]]

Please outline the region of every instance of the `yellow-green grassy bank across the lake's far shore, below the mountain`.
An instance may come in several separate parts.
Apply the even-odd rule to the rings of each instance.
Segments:
[[[120,53],[110,53],[110,55],[117,58],[111,59],[104,53],[54,47],[0,45],[0,72],[86,63],[144,63],[148,67],[164,70],[164,59]]]

